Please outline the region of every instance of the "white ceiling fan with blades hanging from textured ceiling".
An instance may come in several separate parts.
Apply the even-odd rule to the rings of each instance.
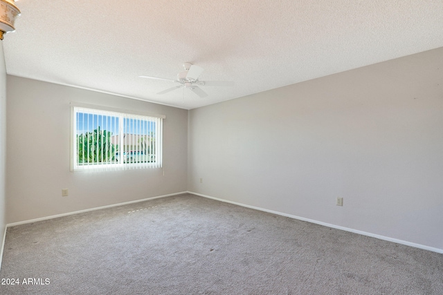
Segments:
[[[199,95],[199,97],[206,97],[208,96],[208,93],[203,91],[199,86],[234,86],[234,82],[232,81],[199,81],[199,76],[201,73],[203,73],[204,69],[200,68],[199,66],[195,66],[189,62],[186,62],[183,64],[183,72],[180,72],[177,75],[177,80],[173,79],[166,79],[166,78],[160,78],[160,77],[152,77],[152,76],[138,76],[141,78],[147,78],[147,79],[157,79],[157,80],[165,80],[170,81],[174,83],[178,83],[180,85],[168,88],[164,91],[161,91],[157,94],[165,94],[170,91],[174,91],[178,88],[187,88],[190,89],[190,91],[194,92],[195,94]]]

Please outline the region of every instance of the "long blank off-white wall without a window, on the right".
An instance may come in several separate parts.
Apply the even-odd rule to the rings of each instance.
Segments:
[[[188,190],[443,249],[442,77],[438,48],[194,109]]]

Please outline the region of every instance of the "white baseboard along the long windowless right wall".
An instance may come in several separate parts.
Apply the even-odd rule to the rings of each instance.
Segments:
[[[317,225],[323,225],[325,227],[332,227],[333,229],[341,229],[342,231],[350,231],[350,232],[352,232],[354,234],[361,234],[363,236],[370,236],[372,238],[378,238],[380,240],[387,240],[389,242],[396,242],[397,244],[406,245],[406,246],[410,246],[410,247],[415,247],[415,248],[424,249],[424,250],[433,251],[433,252],[437,252],[437,253],[443,254],[443,249],[434,248],[434,247],[428,247],[426,245],[417,244],[415,242],[408,242],[406,240],[398,240],[396,238],[390,238],[390,237],[387,237],[387,236],[380,236],[380,235],[377,235],[377,234],[368,233],[366,231],[359,231],[357,229],[350,229],[348,227],[341,227],[339,225],[332,225],[330,223],[321,222],[321,221],[318,221],[318,220],[313,220],[313,219],[304,218],[304,217],[300,217],[300,216],[295,216],[295,215],[291,215],[291,214],[287,214],[287,213],[282,213],[282,212],[278,212],[278,211],[268,210],[268,209],[264,209],[264,208],[260,208],[260,207],[255,207],[255,206],[251,206],[251,205],[247,205],[247,204],[242,204],[242,203],[239,203],[239,202],[233,202],[233,201],[229,201],[229,200],[215,198],[215,197],[207,196],[207,195],[204,195],[204,194],[201,194],[201,193],[194,193],[192,191],[188,191],[188,193],[191,193],[192,195],[196,195],[196,196],[201,196],[201,197],[204,197],[204,198],[209,198],[209,199],[221,201],[221,202],[227,202],[227,203],[230,203],[230,204],[236,204],[236,205],[239,205],[239,206],[242,206],[242,207],[246,207],[246,208],[251,208],[251,209],[260,210],[260,211],[264,211],[264,212],[268,212],[268,213],[273,213],[273,214],[277,214],[277,215],[280,215],[280,216],[285,216],[285,217],[289,217],[289,218],[303,220],[303,221],[315,223]]]

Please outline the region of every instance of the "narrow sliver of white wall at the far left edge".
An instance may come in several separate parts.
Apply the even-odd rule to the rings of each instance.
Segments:
[[[6,230],[6,65],[0,42],[0,248]],[[0,249],[1,251],[1,249]],[[3,251],[0,252],[0,263]],[[1,265],[0,265],[1,267]]]

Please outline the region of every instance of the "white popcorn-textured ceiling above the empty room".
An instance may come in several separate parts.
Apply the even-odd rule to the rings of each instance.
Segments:
[[[443,46],[443,0],[20,0],[10,75],[197,108]],[[443,57],[442,57],[443,58]],[[174,82],[204,68],[200,98]]]

